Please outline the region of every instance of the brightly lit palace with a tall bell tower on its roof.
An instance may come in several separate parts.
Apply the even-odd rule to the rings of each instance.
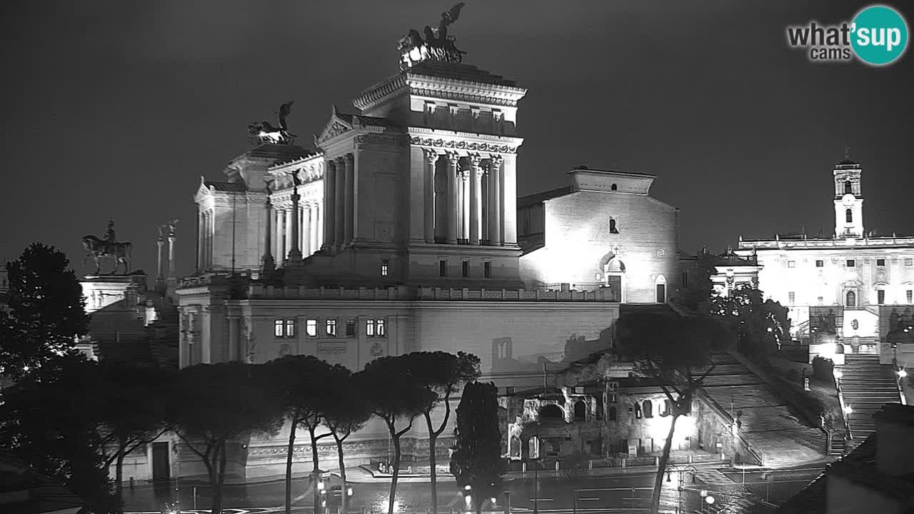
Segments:
[[[905,330],[914,321],[914,237],[866,230],[862,172],[846,154],[834,166],[831,236],[740,238],[737,253],[757,256],[760,289],[791,309],[792,336],[811,343],[811,357],[843,351],[914,362]]]

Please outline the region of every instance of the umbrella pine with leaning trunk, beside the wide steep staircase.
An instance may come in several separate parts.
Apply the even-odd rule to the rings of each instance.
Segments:
[[[654,478],[651,511],[656,513],[676,420],[690,412],[692,396],[714,369],[711,355],[726,348],[733,335],[710,316],[633,312],[621,316],[616,327],[619,336],[616,351],[622,359],[635,363],[639,375],[654,379],[672,404],[670,430]]]

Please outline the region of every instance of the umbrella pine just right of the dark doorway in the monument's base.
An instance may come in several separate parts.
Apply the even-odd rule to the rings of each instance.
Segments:
[[[222,512],[228,444],[249,434],[275,433],[283,405],[270,394],[265,365],[221,362],[181,369],[168,421],[207,468],[212,512]]]

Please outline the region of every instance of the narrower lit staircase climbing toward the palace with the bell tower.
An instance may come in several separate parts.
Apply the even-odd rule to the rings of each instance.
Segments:
[[[862,441],[876,433],[873,413],[885,403],[901,402],[898,377],[890,364],[879,364],[878,355],[848,353],[845,364],[835,368],[842,375],[842,400],[853,411],[847,414],[847,430]]]

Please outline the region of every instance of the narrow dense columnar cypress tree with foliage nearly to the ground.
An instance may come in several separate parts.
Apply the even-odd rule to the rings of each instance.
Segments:
[[[470,382],[463,386],[457,406],[456,442],[451,473],[457,487],[467,490],[476,501],[477,514],[486,498],[504,490],[507,463],[502,458],[502,434],[498,427],[497,390],[493,383]]]

